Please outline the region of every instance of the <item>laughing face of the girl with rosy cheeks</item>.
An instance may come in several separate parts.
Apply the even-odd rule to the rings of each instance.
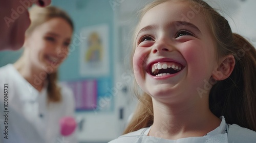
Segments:
[[[170,103],[166,100],[170,97],[172,101],[187,99],[187,95],[200,97],[197,89],[204,89],[217,65],[204,15],[191,7],[195,5],[159,4],[145,13],[138,26],[135,79],[143,91],[163,102]],[[204,90],[209,93],[209,88]]]

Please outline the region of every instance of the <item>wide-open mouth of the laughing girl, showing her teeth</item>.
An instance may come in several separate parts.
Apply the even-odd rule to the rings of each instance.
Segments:
[[[158,62],[149,66],[148,73],[155,77],[161,77],[179,73],[182,69],[183,65],[177,62]]]

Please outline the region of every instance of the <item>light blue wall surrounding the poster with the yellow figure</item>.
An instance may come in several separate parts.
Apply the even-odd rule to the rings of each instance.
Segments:
[[[100,0],[55,0],[52,1],[52,5],[58,6],[66,10],[69,15],[72,17],[75,24],[74,34],[79,35],[80,30],[84,27],[100,25],[106,23],[109,26],[109,47],[110,47],[110,57],[112,56],[113,47],[113,25],[114,25],[114,11],[112,10],[109,1],[100,1]],[[75,38],[75,37],[74,37]],[[70,81],[83,79],[79,76],[79,48],[75,47],[74,51],[70,53],[68,59],[60,67],[60,80]],[[73,47],[72,47],[73,49]],[[111,59],[113,61],[113,59]],[[113,67],[113,62],[111,67]],[[111,68],[113,69],[113,68]],[[113,72],[110,72],[113,73]],[[113,76],[113,75],[109,75]],[[108,77],[106,77],[108,78]]]

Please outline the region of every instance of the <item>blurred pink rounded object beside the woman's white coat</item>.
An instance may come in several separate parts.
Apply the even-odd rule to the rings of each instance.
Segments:
[[[60,134],[63,136],[71,135],[76,129],[76,121],[74,117],[66,116],[59,120]]]

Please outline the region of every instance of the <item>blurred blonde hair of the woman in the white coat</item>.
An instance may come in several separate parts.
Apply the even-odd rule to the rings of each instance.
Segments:
[[[26,31],[26,35],[29,35],[32,31],[34,31],[34,29],[37,26],[41,25],[42,23],[52,18],[62,18],[66,20],[69,23],[72,30],[74,30],[74,25],[70,16],[65,11],[57,7],[48,6],[45,8],[40,8],[40,7],[34,6],[30,9],[29,14],[31,19],[31,25]],[[54,73],[47,73],[47,80],[48,80],[48,87],[47,87],[48,102],[60,102],[61,93],[60,93],[60,87],[57,85],[57,80],[58,80],[57,71]]]

